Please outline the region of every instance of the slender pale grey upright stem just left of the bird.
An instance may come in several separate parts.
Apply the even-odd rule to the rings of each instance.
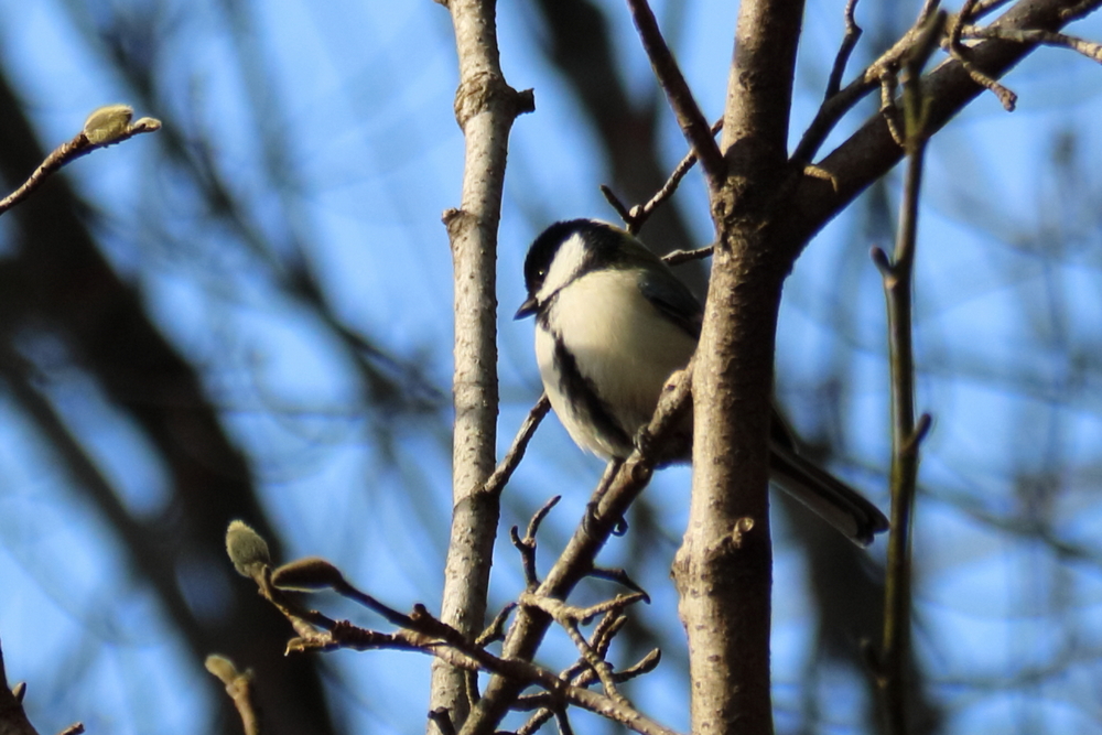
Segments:
[[[533,109],[531,93],[505,82],[498,58],[494,0],[452,0],[460,87],[455,117],[466,141],[458,209],[444,214],[455,278],[455,428],[452,440],[452,534],[444,569],[441,619],[474,640],[483,629],[498,495],[485,490],[497,436],[497,226],[509,129]],[[469,712],[466,674],[433,662],[430,710],[444,707],[453,726]],[[439,727],[431,720],[430,732]]]

